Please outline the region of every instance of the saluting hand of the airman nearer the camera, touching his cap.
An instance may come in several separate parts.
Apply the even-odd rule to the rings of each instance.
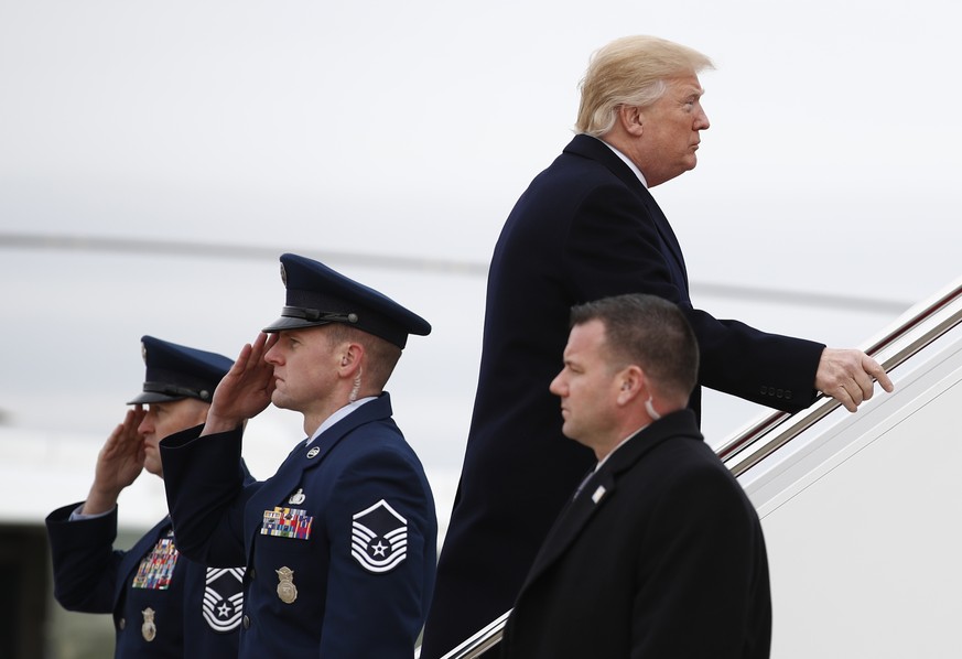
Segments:
[[[234,430],[270,404],[274,367],[263,357],[277,341],[277,334],[261,332],[252,344],[241,348],[237,361],[214,391],[202,436]]]

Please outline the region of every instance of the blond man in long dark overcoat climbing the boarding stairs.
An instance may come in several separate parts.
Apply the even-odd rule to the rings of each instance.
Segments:
[[[561,434],[548,385],[572,305],[641,292],[677,303],[698,337],[699,383],[795,412],[818,392],[850,411],[884,370],[861,350],[759,332],[696,309],[681,247],[649,187],[696,163],[709,128],[707,57],[664,40],[617,40],[582,83],[577,134],[532,181],[488,276],[484,346],[454,510],[437,566],[423,659],[437,659],[510,608],[552,520],[591,463]],[[689,406],[699,414],[700,390]]]

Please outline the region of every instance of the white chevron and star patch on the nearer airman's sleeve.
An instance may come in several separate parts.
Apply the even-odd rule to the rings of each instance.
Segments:
[[[354,516],[350,555],[368,572],[388,572],[408,555],[408,520],[383,499]]]

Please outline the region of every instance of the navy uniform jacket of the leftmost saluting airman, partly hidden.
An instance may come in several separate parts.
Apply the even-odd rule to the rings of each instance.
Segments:
[[[64,506],[46,518],[54,596],[68,611],[114,614],[117,659],[237,656],[241,569],[208,569],[179,555],[166,588],[134,588],[141,560],[167,536],[170,518],[125,552],[112,548],[117,508],[101,517],[68,521],[79,505]],[[148,608],[153,612],[151,640],[143,634]]]

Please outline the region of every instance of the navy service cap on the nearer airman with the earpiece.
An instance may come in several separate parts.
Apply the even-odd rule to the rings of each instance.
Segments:
[[[402,349],[409,334],[431,333],[431,325],[418,314],[320,261],[282,255],[281,280],[288,289],[287,306],[264,332],[344,323]]]

